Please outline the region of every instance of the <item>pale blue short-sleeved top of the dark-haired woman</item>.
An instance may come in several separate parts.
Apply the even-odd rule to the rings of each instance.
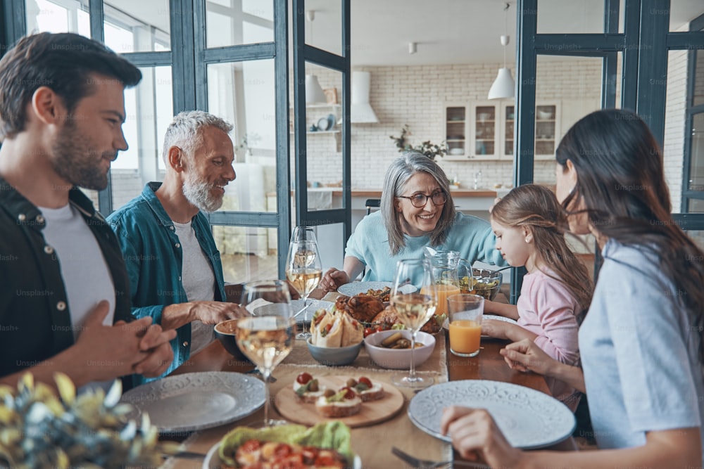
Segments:
[[[640,246],[609,240],[589,313],[579,328],[586,395],[600,449],[646,443],[653,430],[704,421],[700,332]],[[704,444],[704,432],[701,433]]]

